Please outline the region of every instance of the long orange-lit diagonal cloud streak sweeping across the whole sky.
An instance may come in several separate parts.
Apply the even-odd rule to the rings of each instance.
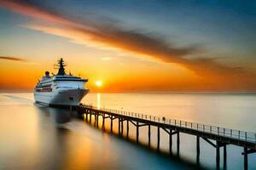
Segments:
[[[26,1],[0,0],[1,4],[16,13],[50,23],[50,25],[23,25],[32,30],[67,37],[71,42],[79,44],[122,50],[142,55],[145,59],[176,63],[212,81],[255,84],[254,76],[242,68],[221,65],[216,58],[189,58],[204,54],[204,51],[195,44],[177,48],[173,42],[167,41],[156,33],[127,30],[119,26],[115,20],[106,20],[106,18],[102,20],[95,17],[91,20],[88,16],[84,16],[84,20],[77,20]]]

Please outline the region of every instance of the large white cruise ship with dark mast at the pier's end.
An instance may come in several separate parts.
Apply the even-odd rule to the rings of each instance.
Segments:
[[[56,75],[49,75],[45,71],[44,77],[34,88],[34,98],[36,103],[49,106],[76,106],[81,99],[88,93],[84,88],[88,79],[74,77],[71,73],[66,74],[65,63],[61,58],[56,65],[59,70]]]

